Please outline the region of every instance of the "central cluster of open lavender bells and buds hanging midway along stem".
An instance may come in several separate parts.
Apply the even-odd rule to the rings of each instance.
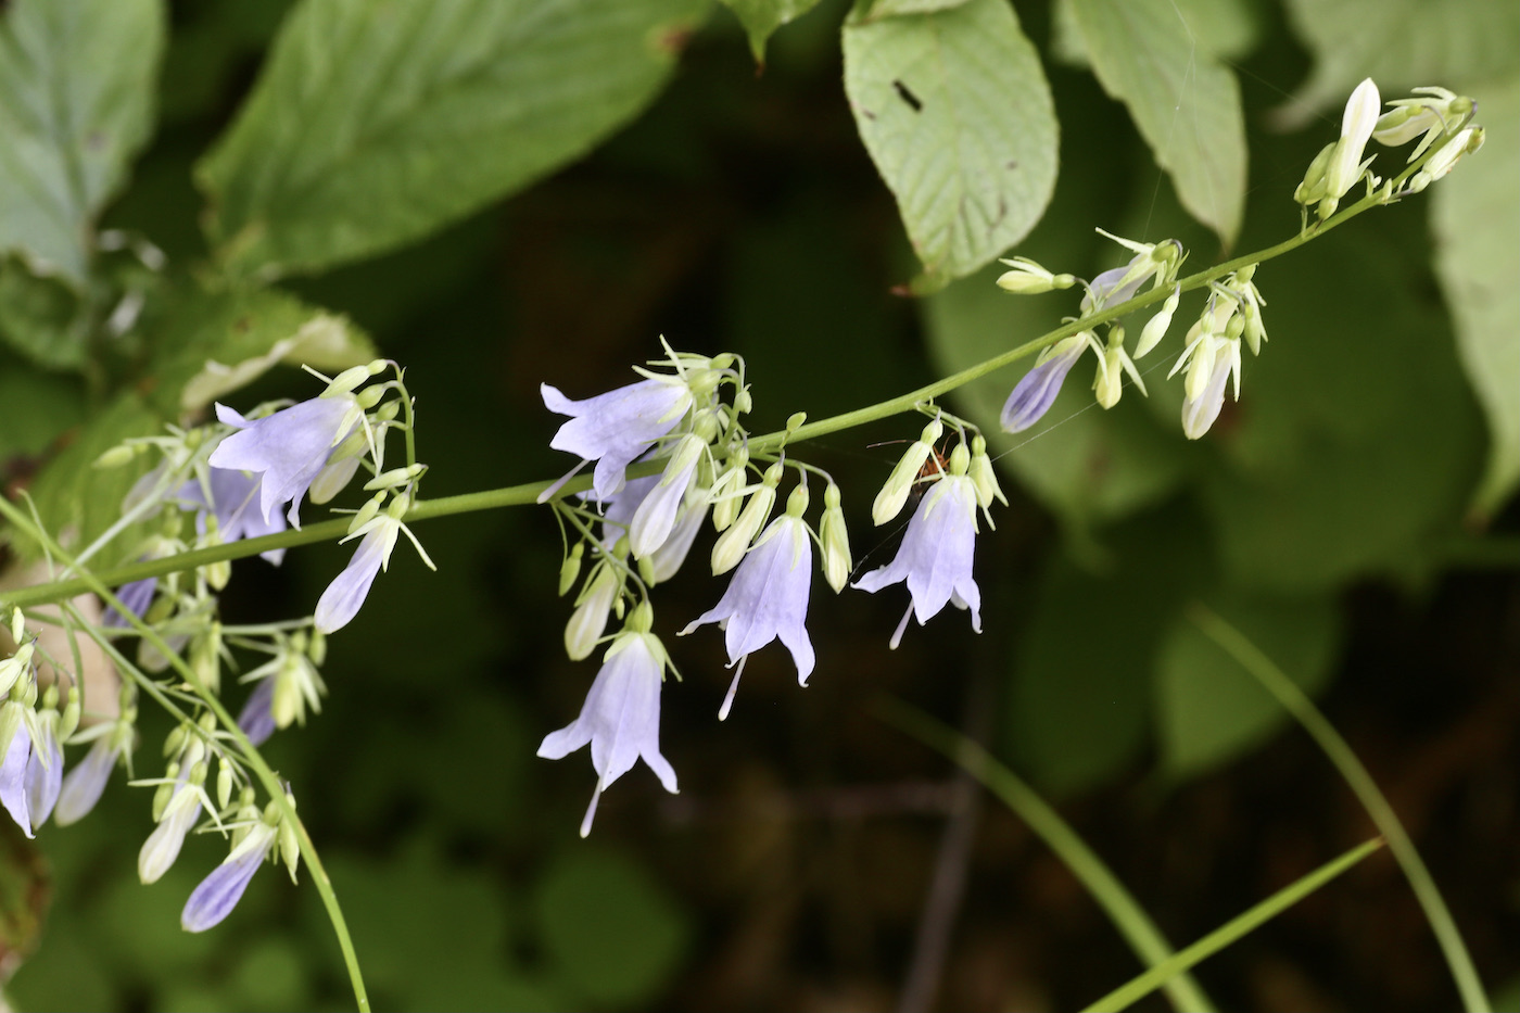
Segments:
[[[559,759],[591,747],[597,773],[582,835],[591,829],[602,791],[643,759],[667,791],[676,789],[670,764],[660,753],[660,691],[673,672],[660,639],[652,633],[651,589],[669,580],[687,558],[704,520],[716,532],[710,555],[713,575],[733,572],[717,602],[692,619],[682,634],[704,625],[724,631],[733,677],[717,716],[728,716],[745,663],[774,640],[790,653],[796,680],[806,686],[816,656],[807,633],[815,549],[824,580],[838,593],[850,583],[850,535],[839,487],[810,464],[751,446],[743,429],[749,409],[743,360],[675,353],[640,370],[646,379],[587,400],[570,400],[552,386],[544,403],[572,420],[550,446],[568,450],[581,462],[541,499],[553,500],[567,537],[559,590],[581,581],[565,627],[565,651],[573,660],[610,645],[591,683],[579,718],[544,738],[538,754]],[[920,493],[918,506],[897,558],[866,573],[854,587],[882,590],[907,584],[909,614],[920,622],[953,602],[971,610],[980,630],[980,595],[971,578],[976,510],[1002,499],[986,456],[986,441],[974,426],[952,420],[933,406],[923,438],[914,443],[877,496],[877,523],[891,522]],[[961,432],[948,461],[935,450],[945,421]],[[793,417],[787,433],[803,424]],[[596,462],[590,488],[562,497],[565,482]],[[631,468],[641,475],[628,478]],[[792,473],[795,485],[780,502],[781,484]],[[809,479],[822,479],[824,511],[816,528],[807,522],[812,505]],[[926,491],[927,487],[927,491]],[[572,545],[573,541],[573,545]],[[625,618],[617,633],[605,630],[611,618]],[[906,619],[904,624],[906,627]],[[901,639],[903,628],[892,637]]]

